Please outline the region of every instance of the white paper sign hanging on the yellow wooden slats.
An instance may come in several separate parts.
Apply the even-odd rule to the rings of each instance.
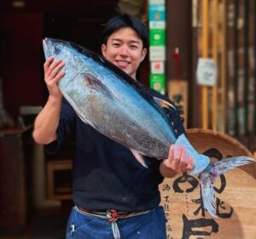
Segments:
[[[217,82],[218,66],[215,60],[199,58],[196,70],[196,80],[200,85],[214,86]]]

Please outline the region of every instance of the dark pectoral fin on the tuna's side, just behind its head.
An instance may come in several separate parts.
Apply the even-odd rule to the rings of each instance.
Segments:
[[[88,73],[84,73],[82,75],[84,77],[84,84],[86,88],[92,88],[92,89],[95,89],[96,91],[101,90],[102,94],[105,94],[108,96],[108,98],[113,99],[113,94],[108,89],[108,87],[102,83],[102,81],[100,81],[99,79],[97,79],[96,77]]]

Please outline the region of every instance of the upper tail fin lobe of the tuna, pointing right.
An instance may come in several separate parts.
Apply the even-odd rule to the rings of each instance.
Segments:
[[[224,174],[225,172],[229,171],[230,169],[240,167],[242,165],[256,162],[253,157],[249,156],[235,156],[229,157],[224,160],[214,162],[214,164],[218,167],[218,174]]]

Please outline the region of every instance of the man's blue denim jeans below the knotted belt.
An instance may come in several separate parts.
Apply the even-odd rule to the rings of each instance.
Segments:
[[[166,217],[162,207],[116,221],[121,239],[166,239]],[[113,239],[112,223],[74,207],[67,223],[66,239]]]

